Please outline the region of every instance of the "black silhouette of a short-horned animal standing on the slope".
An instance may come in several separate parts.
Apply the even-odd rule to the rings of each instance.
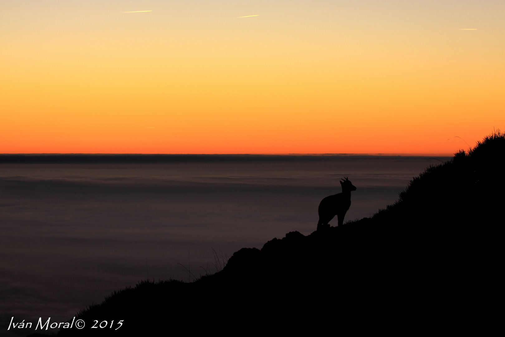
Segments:
[[[319,222],[317,223],[317,230],[330,228],[328,222],[337,216],[338,225],[344,223],[344,216],[350,207],[350,192],[356,190],[349,179],[345,178],[340,181],[342,185],[342,193],[329,196],[321,200],[319,204]]]

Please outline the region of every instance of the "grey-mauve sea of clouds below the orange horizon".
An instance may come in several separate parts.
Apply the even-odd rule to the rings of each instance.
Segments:
[[[211,248],[231,256],[289,231],[310,234],[319,202],[341,192],[344,176],[358,188],[345,220],[369,217],[439,163],[427,157],[272,158],[0,164],[2,324],[12,316],[64,321],[141,279],[187,280],[178,263],[196,276],[204,268],[215,272]]]

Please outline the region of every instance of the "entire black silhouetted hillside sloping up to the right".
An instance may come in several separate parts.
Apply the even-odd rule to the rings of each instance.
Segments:
[[[490,304],[501,298],[504,163],[498,132],[427,169],[370,219],[241,249],[221,272],[192,283],[141,282],[81,312],[83,329],[58,335],[399,332],[492,321]],[[94,320],[123,326],[92,329]]]

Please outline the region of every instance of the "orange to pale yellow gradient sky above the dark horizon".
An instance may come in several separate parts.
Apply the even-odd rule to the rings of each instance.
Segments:
[[[451,154],[505,129],[504,15],[502,0],[4,1],[0,153]]]

